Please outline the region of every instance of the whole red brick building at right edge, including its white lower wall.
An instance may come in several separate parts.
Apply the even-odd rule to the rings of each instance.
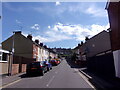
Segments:
[[[110,38],[114,55],[115,74],[120,78],[120,0],[109,0],[106,5],[110,22]]]

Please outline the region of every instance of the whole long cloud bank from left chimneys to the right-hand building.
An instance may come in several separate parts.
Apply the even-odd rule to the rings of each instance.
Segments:
[[[38,32],[34,33],[33,40],[39,39],[40,42],[56,42],[70,39],[84,41],[86,36],[92,37],[103,30],[107,30],[108,28],[109,24],[92,24],[89,26],[83,26],[57,23],[50,26],[49,30],[45,31],[42,36],[39,35]]]

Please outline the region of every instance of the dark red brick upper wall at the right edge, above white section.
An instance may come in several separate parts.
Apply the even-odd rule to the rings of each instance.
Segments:
[[[110,2],[108,7],[113,51],[120,49],[120,2]]]

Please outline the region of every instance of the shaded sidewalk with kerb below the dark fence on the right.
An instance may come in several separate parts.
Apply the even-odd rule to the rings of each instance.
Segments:
[[[102,78],[94,73],[91,73],[86,68],[80,68],[79,71],[88,78],[96,89],[106,90],[110,88],[120,88],[119,78]]]

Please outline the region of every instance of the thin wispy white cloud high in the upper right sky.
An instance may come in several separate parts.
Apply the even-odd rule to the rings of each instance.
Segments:
[[[98,4],[98,3],[97,3]],[[80,12],[91,15],[92,17],[107,17],[107,11],[104,7],[99,7],[96,3],[80,3],[68,7],[69,12]]]

